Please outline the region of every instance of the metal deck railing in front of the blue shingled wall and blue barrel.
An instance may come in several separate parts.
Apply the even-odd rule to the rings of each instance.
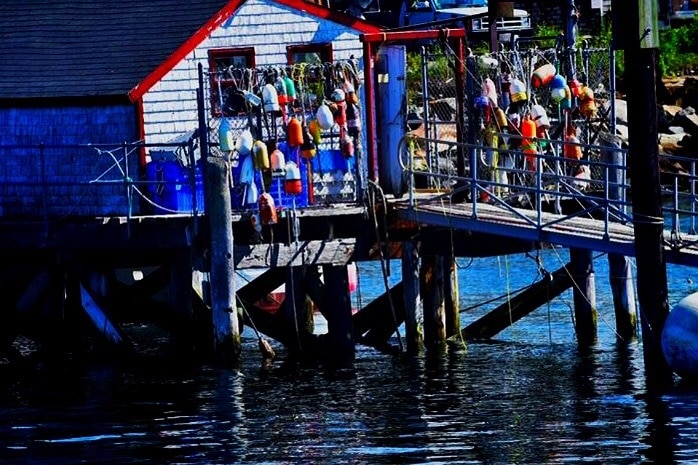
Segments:
[[[0,220],[203,212],[195,141],[0,146]],[[197,198],[198,197],[198,198]]]

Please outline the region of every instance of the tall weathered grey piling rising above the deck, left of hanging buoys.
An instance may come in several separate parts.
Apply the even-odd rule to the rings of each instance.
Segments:
[[[214,355],[237,363],[241,353],[240,325],[235,311],[233,218],[228,184],[229,166],[220,158],[206,160],[206,213],[211,230],[211,310]]]

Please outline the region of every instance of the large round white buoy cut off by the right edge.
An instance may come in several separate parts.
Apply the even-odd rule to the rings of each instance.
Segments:
[[[669,312],[662,331],[669,368],[682,378],[698,378],[698,293],[684,297]]]

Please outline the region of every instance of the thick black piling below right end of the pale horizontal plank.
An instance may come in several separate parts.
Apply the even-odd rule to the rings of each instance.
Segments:
[[[350,366],[356,357],[354,328],[349,294],[349,272],[347,266],[323,266],[325,277],[325,302],[332,302],[327,309],[327,332],[330,344],[330,359],[335,365]]]

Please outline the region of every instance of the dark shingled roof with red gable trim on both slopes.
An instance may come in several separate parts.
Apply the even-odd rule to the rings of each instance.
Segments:
[[[0,99],[136,100],[245,0],[2,0]],[[377,27],[301,0],[270,0]]]

